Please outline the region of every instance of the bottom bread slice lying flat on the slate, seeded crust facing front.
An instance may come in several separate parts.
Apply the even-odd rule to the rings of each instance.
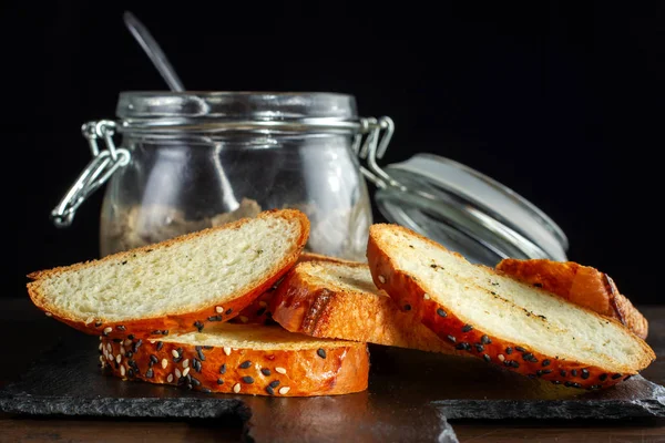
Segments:
[[[311,396],[365,391],[366,343],[313,339],[279,326],[216,323],[158,340],[102,337],[102,368],[124,380],[202,392]]]

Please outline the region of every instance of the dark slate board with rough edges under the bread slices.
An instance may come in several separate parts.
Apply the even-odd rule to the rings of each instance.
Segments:
[[[320,398],[203,394],[124,382],[99,369],[98,338],[66,334],[0,390],[19,414],[211,419],[236,415],[255,441],[454,442],[448,420],[665,418],[665,388],[642,377],[603,391],[530,380],[477,359],[370,346],[366,392]],[[280,430],[275,434],[275,427]],[[276,435],[279,435],[277,437]]]

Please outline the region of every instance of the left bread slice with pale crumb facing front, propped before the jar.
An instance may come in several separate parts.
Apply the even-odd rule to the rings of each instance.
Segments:
[[[183,235],[98,260],[32,272],[47,315],[88,333],[165,336],[227,321],[297,261],[309,235],[299,210]]]

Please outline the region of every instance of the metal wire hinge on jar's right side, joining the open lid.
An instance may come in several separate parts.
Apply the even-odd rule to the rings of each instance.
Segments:
[[[354,152],[358,157],[367,161],[367,167],[360,166],[360,171],[371,183],[381,188],[396,186],[403,189],[405,186],[390,177],[377,163],[377,158],[380,159],[386,154],[392,133],[395,133],[395,123],[388,116],[378,120],[375,117],[361,119],[360,132],[354,140]]]

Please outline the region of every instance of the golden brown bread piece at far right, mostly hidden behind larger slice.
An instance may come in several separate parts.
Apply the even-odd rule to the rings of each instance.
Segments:
[[[610,276],[595,268],[573,261],[507,258],[497,265],[497,270],[614,318],[642,339],[648,334],[648,322],[644,316],[618,292]]]

